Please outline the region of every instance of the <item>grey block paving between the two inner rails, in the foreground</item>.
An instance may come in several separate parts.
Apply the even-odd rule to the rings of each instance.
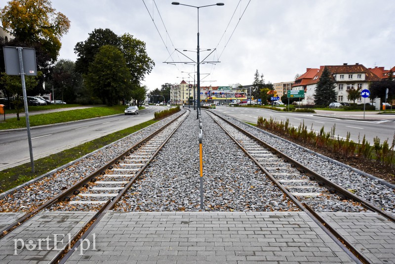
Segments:
[[[109,212],[93,234],[68,263],[353,263],[305,213]]]

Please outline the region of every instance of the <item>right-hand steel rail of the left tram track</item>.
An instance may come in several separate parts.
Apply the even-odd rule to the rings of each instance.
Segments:
[[[191,113],[189,110],[188,115]],[[184,113],[185,114],[185,113]],[[183,115],[180,115],[177,117],[175,120],[178,118],[182,117]],[[178,128],[182,125],[182,123],[185,121],[182,120],[180,124],[171,132],[167,138],[163,141],[163,143],[158,147],[158,149],[154,152],[154,154],[151,156],[151,158],[145,163],[145,165],[137,172],[133,178],[130,179],[130,181],[123,187],[121,191],[119,191],[118,195],[116,197],[113,197],[112,199],[108,200],[107,203],[100,209],[99,212],[97,212],[91,220],[88,220],[84,226],[82,226],[79,230],[79,233],[75,234],[74,238],[72,241],[74,243],[71,245],[70,248],[64,247],[52,260],[51,264],[59,263],[59,264],[64,264],[67,262],[67,260],[73,255],[73,253],[77,250],[77,248],[80,245],[80,241],[87,238],[90,232],[95,228],[95,226],[99,223],[100,220],[103,219],[103,217],[106,215],[106,213],[109,210],[112,210],[116,204],[119,202],[119,200],[122,198],[122,196],[126,193],[126,191],[133,185],[133,183],[143,174],[145,169],[149,166],[151,161],[158,155],[158,152],[163,148],[163,146],[167,143],[167,141],[172,137],[172,135],[178,130]]]

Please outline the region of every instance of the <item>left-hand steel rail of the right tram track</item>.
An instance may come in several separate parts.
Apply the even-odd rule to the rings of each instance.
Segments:
[[[211,111],[210,111],[211,112]],[[212,112],[211,112],[212,113]],[[214,113],[213,113],[214,114]],[[224,120],[222,117],[214,114],[217,117]],[[304,213],[306,213],[316,224],[356,263],[360,264],[370,264],[370,261],[367,260],[353,245],[351,245],[346,238],[344,238],[340,233],[334,232],[334,228],[323,218],[319,217],[312,208],[310,208],[306,203],[301,203],[295,196],[293,196],[277,179],[268,172],[259,161],[257,161],[238,141],[237,139],[231,135],[221,124],[219,124],[215,119],[214,122],[224,130],[224,132],[237,144],[238,147],[251,159],[254,163],[268,176],[276,186],[285,193],[285,195]],[[226,121],[226,120],[224,120]],[[232,125],[231,123],[227,122]],[[232,126],[234,127],[234,126]],[[237,128],[237,127],[235,127]],[[241,128],[237,128],[240,132],[246,132]],[[248,133],[248,132],[246,132]],[[248,133],[249,134],[249,133]],[[317,217],[318,216],[318,217]]]

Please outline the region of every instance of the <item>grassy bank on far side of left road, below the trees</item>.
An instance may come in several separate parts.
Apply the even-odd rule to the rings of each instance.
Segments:
[[[30,126],[52,125],[95,117],[122,114],[125,110],[124,105],[92,107],[85,109],[76,109],[63,112],[47,113],[29,116]],[[18,121],[16,118],[6,119],[0,122],[0,130],[26,128],[26,118],[21,117]]]

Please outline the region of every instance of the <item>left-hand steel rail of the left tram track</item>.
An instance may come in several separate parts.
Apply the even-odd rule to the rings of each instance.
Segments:
[[[56,204],[60,201],[63,201],[64,199],[68,198],[71,194],[73,194],[75,191],[78,191],[79,188],[84,187],[87,182],[91,181],[94,179],[96,176],[100,175],[100,173],[104,170],[107,170],[110,166],[113,166],[118,160],[120,160],[123,156],[127,155],[131,150],[139,147],[141,144],[145,143],[147,140],[158,134],[158,132],[164,130],[167,128],[170,124],[175,122],[178,118],[180,118],[183,115],[178,116],[177,118],[173,119],[169,123],[165,124],[164,126],[160,127],[157,131],[152,132],[150,135],[146,136],[145,138],[141,139],[138,143],[134,144],[132,147],[130,147],[128,150],[124,151],[122,154],[118,155],[116,158],[112,159],[109,161],[107,164],[103,165],[93,173],[89,174],[88,176],[80,179],[78,182],[74,183],[72,186],[68,187],[66,190],[64,190],[61,193],[58,193],[55,195],[53,198],[47,200],[43,204],[41,204],[38,208],[34,209],[33,211],[25,214],[24,216],[20,217],[18,220],[15,220],[11,224],[7,225],[0,231],[0,239],[2,239],[4,236],[9,234],[12,230],[14,230],[16,227],[22,225],[24,222],[29,220],[30,218],[34,217],[38,213],[40,213],[42,210],[45,208],[50,207],[53,204]],[[85,185],[86,186],[86,185]]]

